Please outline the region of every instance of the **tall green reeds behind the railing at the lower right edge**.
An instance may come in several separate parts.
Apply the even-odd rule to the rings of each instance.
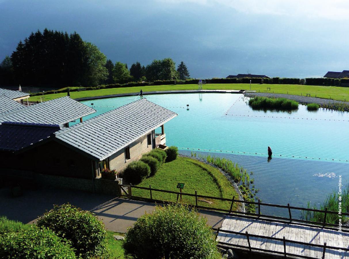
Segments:
[[[321,209],[325,210],[331,210],[337,212],[339,210],[339,202],[341,202],[341,208],[342,213],[348,213],[349,212],[349,185],[342,188],[342,194],[341,194],[341,200],[339,199],[338,192],[333,191],[332,193],[329,193],[323,202],[323,204],[320,206],[320,208],[317,208],[316,206],[311,207],[310,202],[308,201],[308,208],[311,209]],[[309,220],[314,222],[324,222],[324,213],[322,212],[312,212],[312,211],[302,211],[302,219],[303,220]],[[326,222],[331,224],[338,224],[339,219],[342,219],[342,223],[348,222],[349,218],[347,216],[343,216],[340,218],[338,214],[330,214],[327,213],[326,215]]]

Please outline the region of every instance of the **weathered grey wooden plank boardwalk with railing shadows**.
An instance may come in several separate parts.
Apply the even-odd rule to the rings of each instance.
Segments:
[[[222,223],[221,230],[235,231],[245,234],[283,238],[299,242],[311,243],[326,246],[349,248],[349,233],[324,229],[321,227],[309,227],[298,224],[288,224],[280,222],[270,222],[260,219],[249,219],[236,216],[227,216]],[[251,247],[266,249],[270,253],[273,251],[284,252],[283,241],[270,240],[266,238],[249,237]],[[248,247],[247,237],[238,234],[218,232],[218,242],[224,242]],[[323,249],[321,247],[311,247],[300,244],[286,242],[286,252],[296,256],[308,256],[312,258],[322,258]],[[281,255],[282,256],[282,255]],[[349,252],[334,249],[326,249],[327,259],[349,259]]]

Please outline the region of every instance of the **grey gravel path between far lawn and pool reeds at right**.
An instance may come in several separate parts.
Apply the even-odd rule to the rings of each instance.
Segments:
[[[245,96],[247,97],[264,96],[264,97],[277,97],[277,98],[283,97],[283,98],[292,99],[299,103],[305,103],[305,104],[317,103],[320,105],[326,105],[331,103],[344,103],[349,105],[349,102],[335,101],[330,99],[322,99],[322,98],[299,96],[299,95],[287,95],[287,94],[269,94],[266,92],[245,92]]]

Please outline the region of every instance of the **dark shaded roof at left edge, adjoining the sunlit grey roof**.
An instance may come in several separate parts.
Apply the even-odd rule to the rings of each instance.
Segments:
[[[59,125],[4,122],[0,125],[0,150],[17,151],[48,138]]]

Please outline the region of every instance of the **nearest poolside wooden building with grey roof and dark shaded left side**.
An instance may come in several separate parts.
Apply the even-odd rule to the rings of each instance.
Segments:
[[[0,164],[0,172],[25,170],[93,182],[103,168],[121,171],[142,154],[165,145],[164,124],[177,116],[146,98],[69,128],[61,124],[74,116],[57,119],[56,115],[43,114],[35,123],[5,121],[0,125],[0,156],[6,161]]]

